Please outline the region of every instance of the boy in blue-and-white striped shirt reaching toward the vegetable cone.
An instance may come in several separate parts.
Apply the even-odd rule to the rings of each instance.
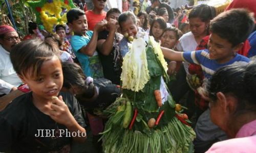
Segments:
[[[208,49],[193,52],[175,52],[162,48],[166,59],[187,61],[202,67],[206,79],[220,67],[230,64],[245,65],[250,60],[237,54],[254,28],[253,13],[246,9],[232,9],[210,21]],[[194,141],[195,152],[205,152],[212,143],[225,139],[225,134],[210,121],[209,109],[198,119]]]

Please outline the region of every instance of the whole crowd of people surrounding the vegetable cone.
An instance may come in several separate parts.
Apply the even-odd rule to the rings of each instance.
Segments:
[[[108,118],[99,114],[121,94],[133,39],[150,36],[167,62],[170,93],[194,122],[195,152],[253,152],[256,3],[233,0],[220,14],[159,0],[124,0],[122,12],[105,12],[105,3],[69,10],[54,34],[31,22],[20,39],[0,26],[0,152],[102,152]]]

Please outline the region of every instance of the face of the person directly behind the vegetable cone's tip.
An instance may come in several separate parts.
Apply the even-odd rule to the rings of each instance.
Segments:
[[[135,38],[138,32],[138,29],[137,29],[137,25],[134,23],[132,18],[129,18],[126,21],[121,23],[121,31],[123,35],[127,33],[129,37],[132,36]]]

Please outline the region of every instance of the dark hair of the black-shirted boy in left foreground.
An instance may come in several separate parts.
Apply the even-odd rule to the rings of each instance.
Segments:
[[[12,47],[10,59],[17,74],[26,76],[32,68],[32,77],[37,78],[40,74],[41,65],[44,61],[59,58],[59,50],[55,43],[44,42],[40,39],[22,41]]]

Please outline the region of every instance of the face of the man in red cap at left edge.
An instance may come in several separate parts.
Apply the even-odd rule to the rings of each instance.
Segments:
[[[19,42],[18,33],[15,31],[6,33],[4,38],[0,39],[0,43],[8,52],[10,52],[11,48]]]

